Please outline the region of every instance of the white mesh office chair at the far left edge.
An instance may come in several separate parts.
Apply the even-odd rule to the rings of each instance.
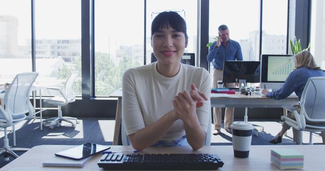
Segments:
[[[32,83],[34,83],[37,72],[26,72],[17,74],[10,84],[8,91],[4,97],[5,109],[0,106],[0,127],[4,128],[4,148],[0,149],[0,154],[3,154],[5,160],[9,160],[9,156],[17,158],[18,155],[14,151],[27,151],[27,148],[12,148],[9,146],[7,127],[12,126],[14,146],[16,145],[15,124],[24,120],[30,119],[32,114],[26,116],[31,108],[29,106],[29,94]]]

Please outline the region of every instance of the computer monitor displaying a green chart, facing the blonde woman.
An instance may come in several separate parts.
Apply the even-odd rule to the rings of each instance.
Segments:
[[[261,56],[261,89],[279,90],[291,71],[295,69],[293,55]]]

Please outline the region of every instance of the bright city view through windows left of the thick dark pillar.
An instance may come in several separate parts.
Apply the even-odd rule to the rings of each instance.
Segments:
[[[79,0],[35,1],[37,81],[64,84],[72,71],[79,71],[77,96],[81,95],[80,7]],[[0,83],[32,71],[30,11],[30,1],[0,1]]]

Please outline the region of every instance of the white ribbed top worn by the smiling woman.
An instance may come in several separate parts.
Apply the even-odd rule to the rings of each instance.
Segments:
[[[190,91],[191,83],[209,99],[197,109],[200,124],[207,131],[211,117],[211,78],[207,70],[181,64],[177,75],[165,77],[157,71],[154,62],[125,71],[122,79],[122,117],[127,135],[136,133],[171,111],[175,96],[184,90]],[[183,122],[179,119],[161,140],[177,140],[184,135]]]

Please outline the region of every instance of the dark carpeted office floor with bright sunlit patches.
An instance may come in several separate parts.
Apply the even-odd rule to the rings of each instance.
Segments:
[[[75,129],[68,123],[62,122],[61,126],[51,130],[48,126],[40,130],[40,120],[22,121],[16,125],[16,146],[31,148],[37,145],[79,145],[86,142],[111,145],[115,120],[109,118],[79,118],[80,123]],[[281,123],[273,121],[253,121],[253,124],[265,126],[265,133],[252,137],[252,145],[270,145],[268,142],[281,129]],[[212,125],[213,128],[213,125]],[[294,144],[291,130],[283,137],[282,145]],[[211,135],[211,145],[232,145],[232,135],[223,129],[218,136]],[[9,143],[12,145],[12,133],[9,134]],[[0,146],[3,146],[4,132],[0,132]],[[303,133],[303,143],[309,142],[309,133]],[[313,134],[313,142],[322,143],[321,137]],[[18,153],[21,155],[22,153]],[[12,161],[12,158],[10,159]],[[9,162],[10,162],[9,161]],[[0,156],[0,168],[7,163],[3,156]]]

